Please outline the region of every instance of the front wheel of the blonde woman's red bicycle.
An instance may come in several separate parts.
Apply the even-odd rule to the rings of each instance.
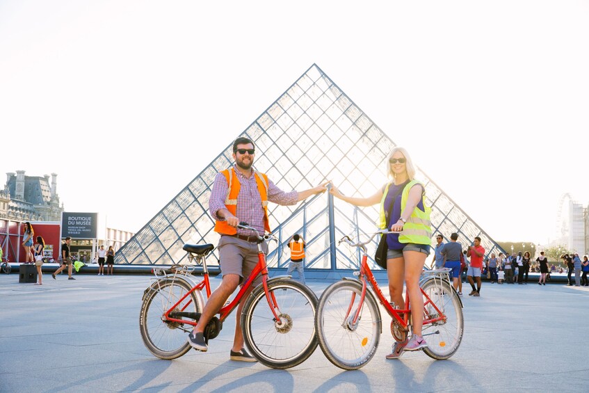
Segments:
[[[366,290],[360,320],[356,326],[346,323],[346,315],[354,314],[360,303],[362,284],[339,281],[331,284],[319,298],[315,328],[319,347],[334,365],[345,370],[360,369],[376,354],[381,324],[378,303]],[[355,295],[350,309],[350,300]]]

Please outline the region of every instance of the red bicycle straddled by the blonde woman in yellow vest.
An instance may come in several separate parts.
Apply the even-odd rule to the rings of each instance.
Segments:
[[[376,353],[382,333],[377,300],[392,316],[391,332],[396,341],[403,342],[412,334],[407,292],[403,309],[393,307],[382,295],[367,263],[366,244],[377,234],[387,233],[391,232],[382,230],[357,243],[344,236],[339,243],[362,250],[360,272],[355,273],[358,279],[344,278],[330,285],[319,298],[315,319],[319,346],[330,362],[342,369],[360,369]],[[419,282],[423,295],[422,334],[428,336],[423,352],[438,360],[448,359],[458,350],[464,328],[462,301],[450,284],[449,270],[423,271]]]

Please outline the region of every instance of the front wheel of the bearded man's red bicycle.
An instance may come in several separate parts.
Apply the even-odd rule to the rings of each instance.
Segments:
[[[258,285],[245,300],[241,330],[245,346],[266,367],[288,369],[304,362],[317,348],[315,312],[317,296],[309,287],[289,278],[268,282],[287,326],[276,326],[264,286]]]

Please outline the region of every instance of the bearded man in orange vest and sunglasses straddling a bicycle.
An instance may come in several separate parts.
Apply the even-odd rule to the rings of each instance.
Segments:
[[[270,232],[268,224],[267,203],[281,205],[296,204],[311,195],[323,193],[328,182],[305,191],[285,193],[271,182],[264,173],[252,168],[255,156],[254,143],[248,138],[237,138],[233,143],[232,168],[218,173],[209,199],[209,213],[215,219],[215,232],[221,237],[218,243],[221,273],[223,279],[220,286],[211,294],[200,319],[193,332],[188,335],[188,343],[198,351],[207,351],[203,332],[207,323],[225,304],[225,301],[247,278],[258,262],[258,240],[255,233],[237,228],[245,222],[263,232]],[[268,246],[264,243],[264,252]],[[257,281],[260,281],[259,278]],[[243,298],[247,298],[245,294]],[[236,312],[235,335],[229,353],[231,360],[255,362],[245,348],[241,333],[241,310],[239,303]]]

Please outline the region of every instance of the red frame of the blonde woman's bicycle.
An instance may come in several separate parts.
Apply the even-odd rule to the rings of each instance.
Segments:
[[[368,266],[367,260],[367,256],[364,253],[362,255],[362,263],[360,264],[360,281],[362,282],[362,295],[360,296],[360,306],[357,307],[353,317],[353,323],[356,323],[357,320],[360,318],[360,310],[362,309],[362,304],[364,303],[364,298],[366,297],[366,289],[368,287],[367,282],[369,282],[380,304],[382,304],[382,306],[385,307],[385,310],[387,310],[387,312],[392,318],[396,319],[396,321],[399,323],[401,328],[403,328],[403,330],[408,331],[408,320],[411,310],[410,299],[407,289],[405,289],[405,308],[403,310],[393,308],[392,305],[387,301],[385,296],[382,294],[382,291],[380,290],[380,287],[378,286],[378,283],[376,282],[376,279],[374,278],[374,275],[372,274],[372,271]],[[428,323],[435,323],[437,321],[442,321],[446,319],[446,316],[444,316],[444,312],[442,312],[442,310],[439,310],[435,303],[433,303],[433,301],[430,299],[428,294],[426,294],[421,287],[419,287],[419,289],[421,290],[421,294],[425,298],[423,301],[423,309],[426,310],[426,306],[431,305],[436,310],[437,315],[439,315],[437,318],[428,318],[428,313],[424,312],[423,325],[427,325]],[[354,304],[354,300],[355,294],[352,296],[352,299],[350,300],[350,307],[348,307],[348,315]]]

